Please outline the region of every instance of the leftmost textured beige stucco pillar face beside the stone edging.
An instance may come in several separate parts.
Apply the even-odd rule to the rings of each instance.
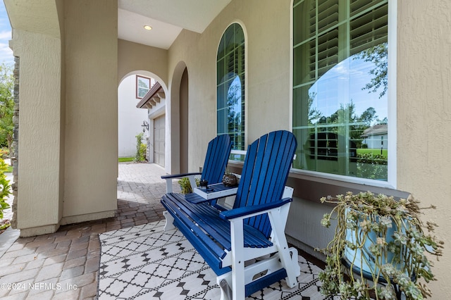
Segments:
[[[18,29],[11,47],[20,56],[17,227],[53,232],[62,211],[60,39]]]

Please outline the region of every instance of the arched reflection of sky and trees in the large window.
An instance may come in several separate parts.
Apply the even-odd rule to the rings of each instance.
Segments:
[[[308,125],[299,127],[307,170],[387,180],[387,44],[374,48],[385,51],[350,56],[309,87]]]

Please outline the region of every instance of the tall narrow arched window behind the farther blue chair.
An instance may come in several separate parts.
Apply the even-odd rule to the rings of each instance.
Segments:
[[[230,136],[233,150],[245,150],[245,35],[240,24],[233,23],[224,32],[216,67],[216,132]]]

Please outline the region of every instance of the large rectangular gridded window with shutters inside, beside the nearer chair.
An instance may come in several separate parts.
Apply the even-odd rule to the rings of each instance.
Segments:
[[[295,0],[294,168],[388,180],[388,1]]]

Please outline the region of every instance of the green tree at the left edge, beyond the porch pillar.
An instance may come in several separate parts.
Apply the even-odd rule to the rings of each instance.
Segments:
[[[0,65],[0,146],[8,146],[9,153],[11,153],[14,130],[13,90],[13,68],[3,63]]]

